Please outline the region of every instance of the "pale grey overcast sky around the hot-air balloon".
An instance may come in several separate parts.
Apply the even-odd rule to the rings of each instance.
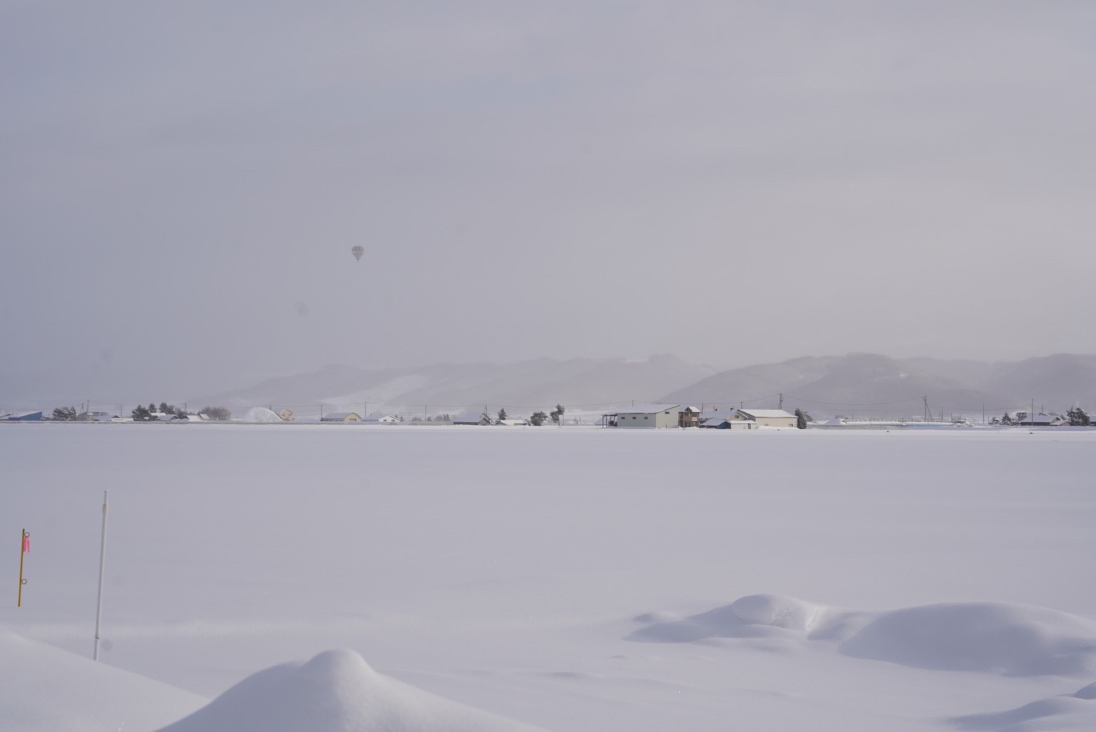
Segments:
[[[0,8],[0,400],[1096,352],[1094,3]]]

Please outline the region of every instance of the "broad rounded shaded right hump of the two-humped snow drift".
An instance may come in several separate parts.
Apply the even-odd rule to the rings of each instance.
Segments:
[[[841,651],[917,668],[1077,675],[1096,671],[1096,624],[1026,605],[925,605],[880,614]]]

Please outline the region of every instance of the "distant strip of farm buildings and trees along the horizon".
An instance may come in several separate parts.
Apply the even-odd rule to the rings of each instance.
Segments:
[[[318,407],[318,414],[315,411]],[[298,413],[299,412],[299,413]],[[713,407],[669,404],[669,403],[630,403],[609,411],[581,411],[572,414],[570,422],[564,420],[567,408],[557,404],[550,411],[537,410],[528,416],[513,416],[505,408],[498,410],[483,407],[482,410],[468,410],[458,415],[448,413],[407,415],[395,412],[362,412],[324,410],[323,404],[310,408],[290,407],[252,407],[240,416],[233,418],[225,407],[204,407],[197,412],[185,408],[161,402],[137,405],[128,413],[91,409],[90,402],[75,407],[58,407],[53,412],[23,411],[0,413],[0,422],[76,422],[76,423],[246,423],[246,424],[363,424],[363,425],[467,425],[467,426],[543,426],[563,424],[600,426],[617,430],[666,430],[666,428],[707,428],[707,430],[781,430],[781,428],[821,428],[821,430],[890,430],[890,428],[924,428],[924,427],[974,427],[974,426],[1025,426],[1025,427],[1087,427],[1092,421],[1083,409],[1074,407],[1065,414],[1055,412],[1017,411],[1014,415],[1007,412],[989,421],[978,423],[964,416],[952,419],[933,419],[927,410],[925,415],[916,418],[854,418],[836,416],[815,421],[802,410],[787,412],[783,409],[754,409],[746,407]]]

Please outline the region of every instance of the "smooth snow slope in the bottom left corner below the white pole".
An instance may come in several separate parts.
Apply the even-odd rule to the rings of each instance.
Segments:
[[[0,729],[4,730],[153,730],[207,701],[3,628],[0,659]]]

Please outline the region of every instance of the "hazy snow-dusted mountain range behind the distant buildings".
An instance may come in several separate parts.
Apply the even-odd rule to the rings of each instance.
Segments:
[[[420,368],[326,366],[249,389],[191,399],[233,411],[273,405],[298,413],[345,409],[416,414],[466,413],[489,405],[515,414],[556,403],[596,412],[629,401],[801,408],[815,416],[990,415],[1027,408],[1096,408],[1096,355],[1058,354],[1014,363],[895,359],[878,354],[808,356],[717,371],[675,356],[538,358],[515,364],[437,364]]]

